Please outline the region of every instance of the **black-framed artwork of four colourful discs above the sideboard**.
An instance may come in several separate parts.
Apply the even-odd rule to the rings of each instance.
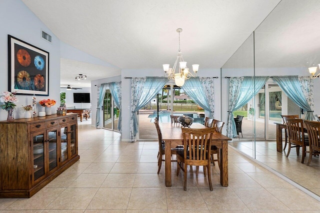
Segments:
[[[49,53],[8,35],[9,91],[49,95]]]

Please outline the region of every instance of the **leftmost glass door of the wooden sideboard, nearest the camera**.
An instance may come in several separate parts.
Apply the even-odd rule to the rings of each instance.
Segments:
[[[37,180],[45,174],[44,167],[44,132],[34,133],[33,142],[33,180]]]

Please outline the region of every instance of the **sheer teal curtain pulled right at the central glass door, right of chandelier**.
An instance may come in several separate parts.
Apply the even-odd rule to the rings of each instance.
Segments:
[[[183,89],[185,94],[189,96],[194,101],[194,103],[196,103],[209,113],[208,117],[213,117],[214,108],[210,108],[199,78],[190,78],[185,80],[183,86],[181,86],[181,89]],[[213,93],[208,95],[213,96]]]

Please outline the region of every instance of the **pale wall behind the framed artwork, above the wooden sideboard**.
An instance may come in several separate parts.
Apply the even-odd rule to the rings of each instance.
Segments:
[[[58,38],[20,1],[1,0],[0,1],[0,92],[8,90],[8,34],[32,44],[40,49],[49,52],[49,96],[38,96],[37,102],[41,99],[54,99],[57,104],[52,107],[52,112],[56,113],[56,108],[60,102],[60,43]],[[41,29],[52,36],[52,43],[42,39]],[[32,104],[31,95],[18,95],[19,103],[14,112],[15,118],[22,118],[20,110],[22,105]],[[37,104],[37,111],[40,105]],[[0,110],[0,120],[6,120],[7,112]]]

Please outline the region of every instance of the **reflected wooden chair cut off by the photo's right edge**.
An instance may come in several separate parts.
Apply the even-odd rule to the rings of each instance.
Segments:
[[[306,126],[309,139],[309,160],[306,166],[311,163],[312,156],[320,154],[320,122],[318,121],[303,121]]]

